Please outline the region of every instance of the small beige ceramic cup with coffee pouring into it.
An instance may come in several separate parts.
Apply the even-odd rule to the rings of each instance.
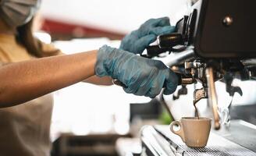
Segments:
[[[173,129],[180,126],[179,130]],[[185,117],[170,124],[172,133],[180,136],[188,147],[205,147],[211,130],[211,119]]]

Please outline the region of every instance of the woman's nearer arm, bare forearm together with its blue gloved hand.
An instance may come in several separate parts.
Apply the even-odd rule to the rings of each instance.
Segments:
[[[161,61],[102,46],[98,51],[38,58],[0,68],[0,108],[18,105],[94,76],[111,76],[126,93],[172,94],[178,77]]]

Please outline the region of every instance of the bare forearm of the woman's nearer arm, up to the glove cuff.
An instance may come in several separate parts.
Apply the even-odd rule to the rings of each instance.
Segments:
[[[0,108],[18,105],[94,76],[97,51],[37,58],[0,68]]]

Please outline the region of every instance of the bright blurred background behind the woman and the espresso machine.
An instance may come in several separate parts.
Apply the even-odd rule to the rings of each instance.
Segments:
[[[103,44],[118,48],[126,34],[150,18],[169,16],[175,25],[190,4],[189,0],[43,0],[36,35],[66,54],[98,49]],[[243,85],[247,88],[251,83]],[[230,99],[225,85],[219,87],[219,101],[226,105]],[[189,94],[179,101],[165,96],[175,119],[194,115],[193,88],[188,87]],[[234,97],[237,105],[245,99],[254,104],[250,97],[255,91],[244,94],[243,98]],[[205,102],[198,107],[204,109]],[[157,99],[126,94],[115,85],[76,83],[55,92],[52,155],[136,155],[141,151],[141,126],[169,124],[171,120]]]

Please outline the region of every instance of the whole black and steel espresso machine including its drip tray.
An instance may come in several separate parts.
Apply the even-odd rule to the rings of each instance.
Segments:
[[[230,97],[243,96],[233,80],[256,78],[255,6],[254,0],[194,1],[190,12],[176,23],[176,33],[158,36],[156,44],[147,48],[144,57],[161,56],[159,59],[180,77],[182,87],[173,100],[186,96],[188,84],[201,83],[190,105],[208,99],[213,122],[204,148],[187,147],[169,126],[144,126],[141,155],[256,155],[256,126],[230,121],[230,105],[219,108],[215,87],[215,82],[221,81]]]

